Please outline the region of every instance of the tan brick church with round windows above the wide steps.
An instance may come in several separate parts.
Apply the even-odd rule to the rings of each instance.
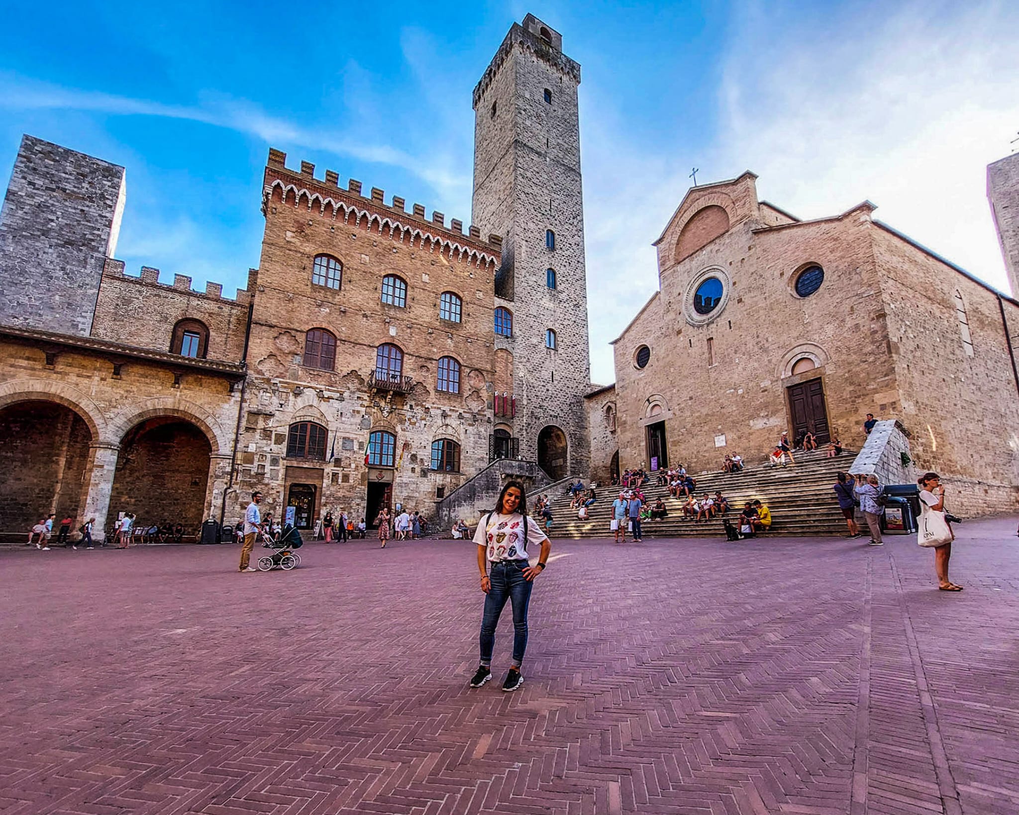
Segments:
[[[868,202],[801,221],[755,182],[692,187],[656,241],[658,291],[613,341],[614,388],[588,400],[616,441],[595,473],[763,460],[783,431],[858,449],[871,413],[900,420],[914,466],[968,512],[1014,509],[1019,303]]]

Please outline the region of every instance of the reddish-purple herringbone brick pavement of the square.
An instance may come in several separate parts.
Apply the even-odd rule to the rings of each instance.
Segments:
[[[474,546],[0,554],[4,815],[1019,812],[1019,539],[562,541],[470,690]]]

